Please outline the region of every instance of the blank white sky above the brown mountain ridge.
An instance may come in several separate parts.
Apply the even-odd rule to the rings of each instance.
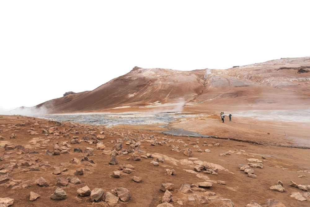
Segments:
[[[0,112],[134,67],[228,69],[310,56],[310,1],[0,1]]]

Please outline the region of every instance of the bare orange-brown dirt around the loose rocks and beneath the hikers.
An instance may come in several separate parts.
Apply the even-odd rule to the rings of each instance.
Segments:
[[[212,113],[209,113],[212,114]],[[18,124],[26,123],[26,126],[19,126]],[[38,123],[38,125],[33,125]],[[82,164],[70,164],[69,161],[73,158],[82,159],[83,153],[73,153],[73,148],[80,148],[85,151],[86,147],[92,147],[95,149],[95,144],[81,143],[71,144],[71,151],[67,155],[48,156],[46,150],[53,151],[54,144],[61,143],[63,141],[70,141],[71,138],[55,136],[49,134],[51,141],[46,145],[42,144],[42,141],[38,144],[30,144],[30,141],[36,137],[42,137],[47,139],[47,136],[42,134],[42,128],[49,128],[56,124],[52,121],[44,119],[26,117],[26,116],[0,116],[0,136],[4,139],[0,140],[0,145],[4,146],[6,143],[13,143],[14,145],[23,145],[25,147],[33,147],[33,151],[38,151],[39,154],[20,154],[19,150],[5,151],[4,148],[0,148],[0,157],[3,161],[0,161],[0,165],[19,163],[19,160],[29,160],[33,166],[39,166],[40,163],[45,162],[51,164],[51,166],[40,167],[40,171],[29,171],[32,166],[21,166],[18,164],[18,168],[11,171],[15,183],[3,183],[0,185],[1,197],[10,197],[14,199],[13,206],[108,206],[104,201],[92,203],[89,196],[80,197],[76,191],[84,186],[94,188],[102,188],[104,191],[110,191],[116,187],[125,187],[131,193],[131,200],[129,202],[119,202],[116,206],[157,206],[161,203],[164,192],[159,188],[162,183],[173,183],[175,189],[172,195],[179,200],[183,201],[183,206],[201,206],[199,203],[189,203],[187,201],[188,194],[183,194],[178,191],[183,183],[192,184],[196,182],[210,181],[213,182],[213,186],[207,191],[215,192],[218,197],[231,199],[235,206],[246,206],[251,200],[256,200],[261,205],[265,204],[266,199],[274,199],[281,201],[285,206],[309,206],[310,201],[298,201],[290,197],[292,192],[299,191],[298,188],[290,187],[290,181],[294,181],[297,184],[310,185],[310,149],[301,149],[293,147],[271,146],[271,145],[295,145],[296,143],[290,138],[286,138],[281,134],[281,130],[270,127],[271,124],[260,122],[257,123],[253,120],[245,119],[232,119],[232,122],[228,122],[228,117],[225,118],[225,123],[221,123],[218,115],[214,112],[213,115],[208,117],[186,120],[180,123],[171,124],[170,127],[184,128],[190,131],[197,131],[209,136],[216,136],[225,139],[212,139],[212,138],[197,138],[197,137],[175,137],[163,135],[154,131],[160,131],[157,126],[116,126],[115,128],[104,128],[100,126],[90,126],[85,124],[75,124],[76,129],[80,131],[80,134],[70,134],[70,136],[77,135],[80,139],[85,136],[81,132],[86,131],[104,131],[106,139],[101,140],[104,142],[106,148],[104,151],[94,150],[94,155],[89,156],[95,164],[90,164],[86,161]],[[70,123],[64,123],[58,127],[58,131],[64,132],[70,129]],[[256,128],[249,128],[250,126],[256,126]],[[33,128],[32,131],[37,131],[38,135],[30,135],[28,130]],[[224,129],[223,129],[224,128]],[[1,132],[2,129],[2,132]],[[289,130],[290,129],[290,130]],[[290,124],[287,126],[286,133],[295,133],[296,126]],[[298,132],[301,137],[307,137],[308,130],[300,130]],[[270,133],[270,134],[267,134]],[[15,139],[10,139],[11,133],[16,134]],[[110,165],[109,151],[111,151],[114,144],[111,144],[111,140],[116,140],[123,137],[129,138],[148,138],[151,135],[157,138],[157,141],[164,139],[170,139],[171,142],[164,145],[151,146],[148,142],[142,142],[140,149],[153,153],[156,159],[157,157],[165,157],[166,161],[159,163],[159,166],[153,166],[150,162],[152,158],[144,159],[140,161],[131,160],[131,155],[119,155],[117,160],[119,164],[131,164],[135,167],[135,170],[131,174],[121,172],[120,178],[113,178],[111,176],[113,171],[116,171],[118,165]],[[91,137],[90,134],[88,136]],[[232,141],[230,139],[238,139],[239,141]],[[243,140],[243,141],[242,141]],[[197,145],[202,149],[210,149],[210,153],[202,152],[198,153],[193,150],[193,157],[201,161],[211,162],[223,166],[225,170],[219,170],[218,175],[204,174],[202,172],[188,173],[186,170],[193,170],[196,164],[182,165],[179,162],[174,164],[175,160],[184,160],[190,157],[176,151],[172,151],[170,145],[179,145],[180,149],[184,149],[183,141],[186,144],[189,142],[197,142]],[[269,143],[270,145],[260,145],[247,143],[258,142],[260,144]],[[213,142],[220,143],[219,147],[202,146],[204,142],[211,144]],[[298,144],[297,144],[298,145]],[[191,145],[189,145],[191,146]],[[123,148],[127,147],[123,143]],[[192,148],[193,149],[193,148]],[[240,152],[244,150],[245,154],[220,156],[229,150]],[[11,153],[12,152],[12,153]],[[104,153],[103,153],[104,152]],[[156,153],[156,154],[155,154]],[[136,153],[139,154],[139,153]],[[266,159],[262,159],[262,155]],[[129,159],[128,159],[129,158]],[[247,164],[248,158],[257,158],[263,161],[263,169],[254,169],[257,178],[249,178],[247,174],[238,169],[239,164]],[[54,167],[60,167],[60,169],[68,168],[66,172],[62,172],[60,175],[53,175]],[[89,169],[85,171],[84,175],[76,176],[81,181],[80,185],[73,185],[69,183],[68,186],[62,187],[66,193],[67,198],[64,200],[51,200],[50,196],[55,191],[55,183],[58,178],[74,176],[74,172],[78,168]],[[174,169],[176,175],[167,176],[166,169]],[[1,173],[2,174],[2,173]],[[1,176],[0,174],[0,176]],[[304,175],[304,176],[303,176]],[[133,176],[138,176],[143,179],[141,183],[134,182]],[[208,178],[203,176],[207,176]],[[301,177],[299,177],[301,176]],[[36,180],[40,177],[44,177],[48,182],[48,187],[39,187],[36,184]],[[226,185],[219,185],[217,180],[226,182]],[[269,187],[276,185],[278,180],[283,182],[284,192],[272,191]],[[29,182],[28,187],[21,187],[21,183]],[[14,187],[15,186],[15,187]],[[14,188],[13,188],[14,187]],[[13,189],[12,189],[13,188]],[[30,191],[36,192],[41,195],[37,200],[29,201]],[[195,192],[197,195],[200,193]],[[176,202],[172,203],[174,206],[180,206]],[[216,205],[207,205],[216,206]]]

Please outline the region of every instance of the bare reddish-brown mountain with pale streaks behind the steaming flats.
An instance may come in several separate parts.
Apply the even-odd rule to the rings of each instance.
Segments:
[[[50,113],[196,107],[307,108],[310,57],[281,58],[226,70],[180,71],[134,67],[93,91],[41,103]],[[178,108],[176,108],[178,107]]]

